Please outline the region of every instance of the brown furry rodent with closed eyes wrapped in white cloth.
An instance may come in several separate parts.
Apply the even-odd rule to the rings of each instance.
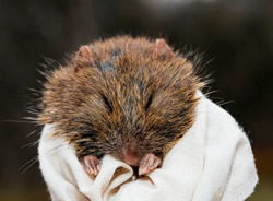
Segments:
[[[109,154],[145,175],[194,121],[203,86],[164,39],[116,36],[81,46],[47,73],[38,121],[74,149],[90,175]]]

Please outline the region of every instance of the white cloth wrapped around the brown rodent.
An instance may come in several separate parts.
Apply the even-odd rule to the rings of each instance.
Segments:
[[[241,201],[258,181],[250,143],[234,118],[201,93],[197,119],[161,168],[133,179],[127,164],[106,155],[96,178],[64,139],[46,125],[39,163],[54,201]]]

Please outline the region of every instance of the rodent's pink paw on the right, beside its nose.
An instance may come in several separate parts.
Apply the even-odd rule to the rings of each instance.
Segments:
[[[158,167],[161,162],[162,159],[154,154],[145,154],[140,162],[139,175],[141,176],[151,173]]]

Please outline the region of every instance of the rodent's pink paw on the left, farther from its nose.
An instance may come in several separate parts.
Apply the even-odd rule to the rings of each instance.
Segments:
[[[94,155],[84,156],[81,163],[90,176],[96,176],[100,170],[99,161]]]

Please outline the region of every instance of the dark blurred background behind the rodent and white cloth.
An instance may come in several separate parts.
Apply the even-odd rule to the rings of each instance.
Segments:
[[[202,55],[211,98],[227,103],[253,147],[260,181],[248,200],[273,200],[272,0],[0,0],[0,200],[49,200],[32,164],[41,128],[22,120],[45,58],[117,34]]]

